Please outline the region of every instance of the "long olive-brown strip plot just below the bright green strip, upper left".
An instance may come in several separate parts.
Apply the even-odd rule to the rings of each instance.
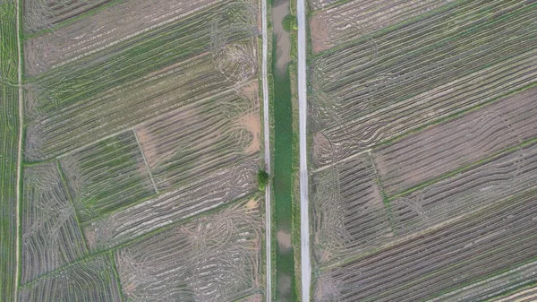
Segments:
[[[28,127],[26,157],[43,160],[81,147],[151,117],[232,89],[210,56],[199,56],[149,74]]]

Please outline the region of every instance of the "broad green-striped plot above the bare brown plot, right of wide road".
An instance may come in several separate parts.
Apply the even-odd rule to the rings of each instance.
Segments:
[[[533,84],[534,5],[447,5],[316,56],[311,128],[329,148],[314,153],[313,163],[344,159]]]

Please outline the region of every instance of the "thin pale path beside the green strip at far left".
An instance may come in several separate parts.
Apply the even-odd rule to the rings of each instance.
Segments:
[[[15,286],[14,286],[14,294],[13,294],[13,301],[18,301],[18,294],[19,294],[19,270],[20,270],[20,259],[21,254],[19,252],[19,249],[21,248],[21,245],[19,243],[21,239],[21,163],[22,163],[22,134],[24,133],[23,127],[24,127],[24,114],[23,114],[23,103],[24,100],[22,99],[22,62],[21,62],[21,0],[16,1],[16,22],[17,22],[17,81],[18,81],[18,90],[19,90],[19,144],[18,144],[18,152],[17,152],[17,180],[16,180],[16,228],[15,228]]]

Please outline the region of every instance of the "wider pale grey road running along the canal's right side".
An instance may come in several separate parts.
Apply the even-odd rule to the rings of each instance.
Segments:
[[[308,202],[308,157],[306,145],[306,120],[308,104],[306,99],[306,7],[305,0],[296,1],[298,21],[298,115],[300,134],[300,242],[302,267],[302,298],[310,301],[310,215]]]

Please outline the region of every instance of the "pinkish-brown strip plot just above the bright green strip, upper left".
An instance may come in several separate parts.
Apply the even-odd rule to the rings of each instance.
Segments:
[[[221,0],[131,0],[24,43],[26,73],[35,75],[125,39],[176,22]],[[150,7],[150,13],[148,12]]]

